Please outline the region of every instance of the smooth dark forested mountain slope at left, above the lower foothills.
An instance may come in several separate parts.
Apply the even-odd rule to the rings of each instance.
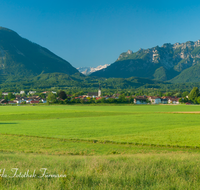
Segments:
[[[0,74],[36,76],[41,73],[78,73],[69,62],[48,49],[0,27]]]

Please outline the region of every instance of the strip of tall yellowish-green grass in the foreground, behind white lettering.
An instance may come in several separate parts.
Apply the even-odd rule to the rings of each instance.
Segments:
[[[24,173],[47,168],[66,178],[1,178],[1,189],[198,189],[198,154],[38,156],[0,154],[1,168]]]

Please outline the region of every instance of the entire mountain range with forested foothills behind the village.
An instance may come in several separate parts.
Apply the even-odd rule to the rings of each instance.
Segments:
[[[96,88],[99,82],[104,88],[168,88],[170,83],[200,82],[199,73],[200,40],[128,50],[111,65],[76,69],[48,49],[0,27],[0,88]]]

